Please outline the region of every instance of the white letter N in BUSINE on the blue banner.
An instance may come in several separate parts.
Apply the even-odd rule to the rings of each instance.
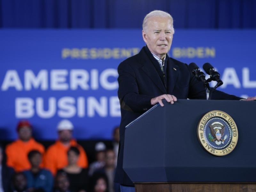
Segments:
[[[108,115],[107,104],[107,97],[100,97],[100,102],[98,102],[94,97],[88,97],[88,117],[95,116],[95,111],[97,111],[99,116],[106,117]]]

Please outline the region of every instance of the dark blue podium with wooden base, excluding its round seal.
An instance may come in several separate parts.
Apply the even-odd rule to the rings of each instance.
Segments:
[[[197,138],[208,112],[233,118],[238,140],[232,152],[214,156]],[[137,192],[256,190],[256,102],[178,100],[164,102],[126,126],[123,168]]]

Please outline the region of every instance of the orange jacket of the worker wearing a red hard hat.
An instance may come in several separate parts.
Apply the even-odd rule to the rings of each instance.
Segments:
[[[13,167],[16,172],[30,169],[31,165],[28,161],[28,153],[31,150],[38,150],[44,154],[44,146],[36,142],[33,138],[24,142],[20,139],[13,141],[6,146],[5,153],[7,156],[6,164]]]

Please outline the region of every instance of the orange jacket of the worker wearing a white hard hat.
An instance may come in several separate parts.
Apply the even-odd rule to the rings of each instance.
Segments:
[[[82,168],[87,168],[88,160],[83,147],[77,144],[76,140],[71,140],[70,146],[75,146],[80,151],[77,165]],[[59,169],[62,169],[68,165],[68,148],[69,147],[63,145],[59,140],[57,140],[46,150],[44,156],[44,167],[50,170],[53,175],[55,175]]]

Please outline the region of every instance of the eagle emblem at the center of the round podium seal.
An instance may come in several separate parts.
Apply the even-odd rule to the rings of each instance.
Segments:
[[[215,142],[216,145],[220,145],[221,143],[224,144],[224,140],[227,139],[227,135],[225,135],[224,139],[221,139],[225,132],[225,125],[223,125],[220,122],[214,122],[209,125],[211,134],[214,137],[213,142]]]

